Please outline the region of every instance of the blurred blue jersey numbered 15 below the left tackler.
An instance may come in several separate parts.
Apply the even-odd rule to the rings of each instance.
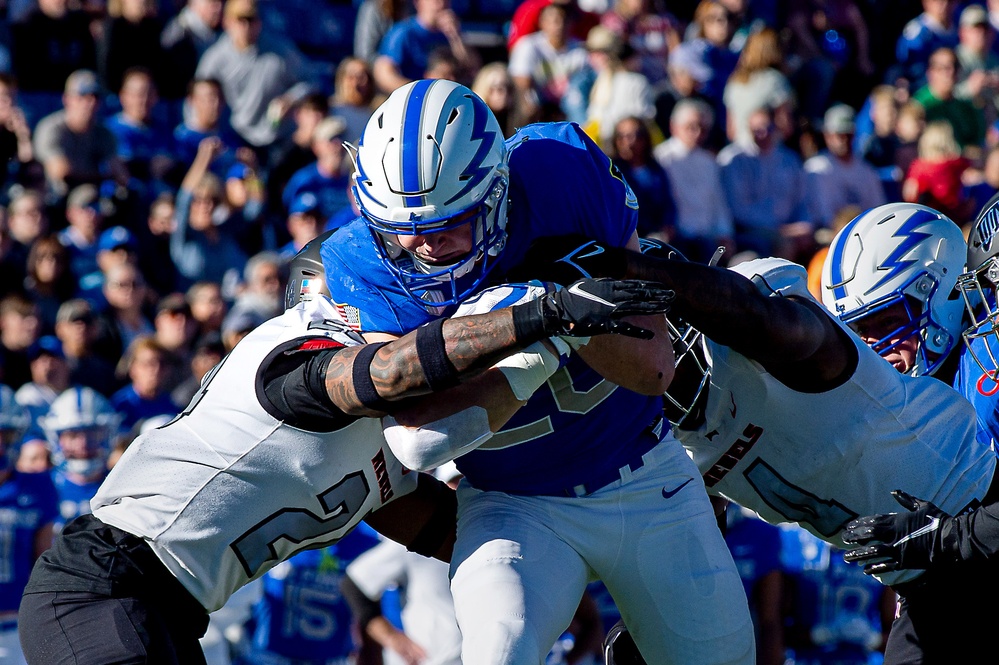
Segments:
[[[352,654],[352,617],[340,582],[347,565],[378,542],[361,522],[335,545],[299,552],[264,575],[263,596],[247,625],[250,662],[279,663],[279,656],[322,665]]]

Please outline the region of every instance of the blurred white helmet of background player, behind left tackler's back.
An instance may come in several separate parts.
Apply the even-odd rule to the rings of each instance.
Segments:
[[[106,468],[111,454],[111,439],[118,434],[121,415],[107,398],[93,388],[73,386],[56,397],[40,423],[49,440],[55,466],[69,473],[90,477]],[[67,431],[86,433],[85,457],[65,454],[59,435]]]

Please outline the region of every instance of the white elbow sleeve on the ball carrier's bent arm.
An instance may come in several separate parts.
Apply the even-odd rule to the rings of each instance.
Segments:
[[[382,433],[399,461],[415,471],[430,471],[478,448],[493,435],[489,413],[481,406],[470,406],[421,427],[406,427],[385,416]]]

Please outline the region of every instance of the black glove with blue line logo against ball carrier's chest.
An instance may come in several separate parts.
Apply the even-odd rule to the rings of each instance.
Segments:
[[[624,277],[625,250],[583,235],[538,238],[520,265],[505,277],[511,282],[538,279],[563,286],[589,277]]]

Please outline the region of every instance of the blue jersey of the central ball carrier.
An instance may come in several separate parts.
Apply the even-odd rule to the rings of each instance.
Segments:
[[[540,237],[582,234],[617,247],[628,242],[637,224],[634,194],[577,125],[529,125],[507,144],[508,240],[491,277],[517,266]],[[333,301],[347,305],[362,332],[399,335],[439,315],[395,282],[363,221],[342,227],[321,252]],[[661,398],[604,381],[574,355],[496,434],[493,441],[509,447],[468,453],[458,469],[482,490],[560,494],[603,479],[650,449],[655,441],[646,431],[661,413]]]

